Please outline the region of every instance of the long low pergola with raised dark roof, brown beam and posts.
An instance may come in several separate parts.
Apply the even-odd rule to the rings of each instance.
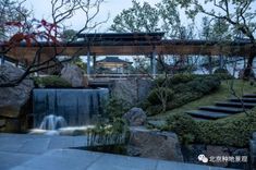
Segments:
[[[90,62],[97,56],[150,56],[153,74],[156,74],[156,58],[162,54],[200,54],[200,56],[239,56],[248,57],[256,49],[248,41],[219,42],[208,40],[163,39],[164,33],[106,33],[80,34],[74,42],[34,44],[25,42],[12,48],[5,54],[16,62],[29,64],[39,49],[40,61],[59,56],[87,56],[87,74],[90,74]],[[3,47],[4,48],[4,47]],[[2,48],[2,50],[3,50]],[[1,50],[1,49],[0,49]],[[39,61],[38,61],[39,62]]]

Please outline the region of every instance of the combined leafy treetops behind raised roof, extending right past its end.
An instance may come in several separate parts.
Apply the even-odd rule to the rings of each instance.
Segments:
[[[148,2],[141,4],[132,1],[133,7],[118,14],[110,31],[118,33],[127,32],[164,32],[167,37],[192,39],[194,37],[194,25],[181,24],[180,13],[174,0],[162,0],[155,7]]]

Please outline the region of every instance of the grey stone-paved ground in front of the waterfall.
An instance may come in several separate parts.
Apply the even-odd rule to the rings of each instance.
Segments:
[[[221,170],[70,147],[85,146],[84,136],[0,134],[0,170]]]

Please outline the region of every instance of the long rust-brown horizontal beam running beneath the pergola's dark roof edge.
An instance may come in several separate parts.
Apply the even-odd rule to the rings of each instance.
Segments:
[[[149,54],[156,50],[157,53],[161,54],[202,54],[202,56],[240,56],[248,57],[249,52],[256,53],[256,49],[251,51],[251,44],[227,44],[219,45],[217,42],[207,44],[207,41],[188,41],[188,42],[173,42],[160,41],[157,44],[139,44],[139,42],[125,42],[125,44],[111,44],[111,45],[92,45],[89,47],[90,53],[96,56],[141,56]],[[155,47],[155,48],[154,48]],[[12,48],[7,54],[21,62],[27,61],[31,63],[36,54],[39,47],[26,47],[20,46]],[[57,52],[60,56],[85,56],[87,53],[87,45],[84,44],[72,44],[70,46],[51,47],[44,46],[40,54],[41,61],[46,61],[49,58],[54,57]]]

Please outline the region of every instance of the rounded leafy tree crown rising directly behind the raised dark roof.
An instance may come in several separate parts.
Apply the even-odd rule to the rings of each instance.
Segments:
[[[156,32],[159,28],[158,10],[148,2],[144,2],[142,5],[133,0],[132,3],[132,8],[123,10],[114,17],[110,31],[118,33]]]

